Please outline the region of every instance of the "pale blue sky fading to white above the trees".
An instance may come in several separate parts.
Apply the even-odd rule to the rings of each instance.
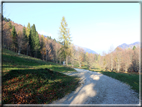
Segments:
[[[123,43],[140,41],[139,3],[4,3],[4,17],[59,40],[62,17],[72,43],[108,53]]]

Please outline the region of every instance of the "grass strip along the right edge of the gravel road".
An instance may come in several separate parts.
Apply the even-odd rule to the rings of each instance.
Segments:
[[[122,72],[117,73],[117,72],[104,71],[99,67],[99,65],[97,65],[96,68],[92,68],[92,69],[89,69],[87,66],[84,66],[82,67],[82,69],[100,72],[104,75],[120,80],[130,85],[130,87],[133,90],[139,93],[139,74],[138,73],[122,73]]]

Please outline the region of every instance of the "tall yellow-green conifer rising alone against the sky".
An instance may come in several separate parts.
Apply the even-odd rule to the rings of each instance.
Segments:
[[[62,44],[62,47],[60,48],[60,55],[66,59],[66,65],[68,65],[68,56],[71,55],[70,53],[70,44],[71,44],[71,37],[70,37],[70,32],[69,29],[67,28],[67,22],[65,20],[65,17],[62,17],[61,21],[61,27],[60,29],[60,36],[59,40],[60,43]]]

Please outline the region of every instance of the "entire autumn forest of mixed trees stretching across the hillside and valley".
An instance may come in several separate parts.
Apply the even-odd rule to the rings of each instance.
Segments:
[[[39,34],[35,24],[28,23],[25,27],[4,17],[2,23],[2,46],[18,55],[25,54],[59,64],[66,61],[66,66],[70,67],[92,69],[99,66],[111,72],[139,72],[140,46],[126,49],[117,47],[115,50],[110,47],[108,53],[103,55],[85,52],[71,43],[65,17],[61,20],[59,40]]]

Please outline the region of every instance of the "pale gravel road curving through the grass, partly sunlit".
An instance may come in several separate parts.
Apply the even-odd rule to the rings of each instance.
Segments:
[[[78,72],[66,74],[79,76],[81,85],[52,104],[139,104],[138,93],[129,85],[98,72],[75,69]]]

